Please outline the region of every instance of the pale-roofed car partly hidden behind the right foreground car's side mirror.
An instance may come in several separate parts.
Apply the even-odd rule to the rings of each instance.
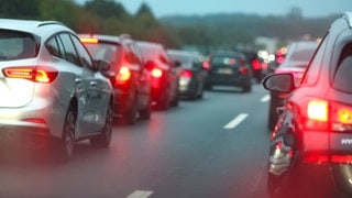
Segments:
[[[285,61],[275,69],[275,74],[293,74],[295,77],[295,84],[298,86],[318,44],[319,43],[315,41],[299,41],[289,44]],[[271,91],[267,119],[267,125],[271,130],[274,129],[277,122],[277,108],[284,105],[285,98],[286,94]]]

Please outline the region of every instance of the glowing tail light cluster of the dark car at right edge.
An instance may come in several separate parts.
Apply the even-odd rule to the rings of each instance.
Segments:
[[[352,107],[323,99],[310,99],[301,123],[306,130],[352,132]],[[305,118],[306,117],[306,118]]]

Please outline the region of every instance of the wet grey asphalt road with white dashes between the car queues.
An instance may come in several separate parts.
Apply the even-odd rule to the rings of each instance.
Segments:
[[[267,101],[261,85],[216,87],[150,121],[117,124],[109,148],[77,143],[67,164],[2,148],[0,198],[266,198]]]

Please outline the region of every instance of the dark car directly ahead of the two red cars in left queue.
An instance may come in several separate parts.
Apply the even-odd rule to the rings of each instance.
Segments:
[[[167,53],[180,66],[178,95],[182,98],[200,99],[204,96],[207,70],[202,62],[193,53],[180,50],[167,50]]]

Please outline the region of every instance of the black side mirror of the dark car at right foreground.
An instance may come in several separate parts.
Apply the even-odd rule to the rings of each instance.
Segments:
[[[263,87],[271,91],[288,94],[296,88],[294,75],[293,74],[271,75],[264,79]]]

